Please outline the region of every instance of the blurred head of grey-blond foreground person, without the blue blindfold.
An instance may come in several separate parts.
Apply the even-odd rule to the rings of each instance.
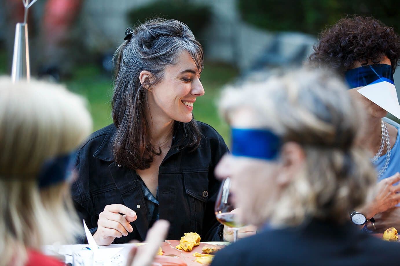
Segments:
[[[363,203],[376,173],[356,144],[362,114],[347,89],[334,74],[307,69],[226,89],[220,106],[232,126],[267,129],[283,142],[276,161],[226,156],[217,167],[236,183],[244,223],[341,223]]]

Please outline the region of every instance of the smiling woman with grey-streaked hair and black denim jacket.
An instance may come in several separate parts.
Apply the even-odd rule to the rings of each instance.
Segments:
[[[192,115],[204,95],[202,47],[177,20],[128,28],[124,40],[115,53],[114,123],[79,151],[78,213],[100,245],[143,240],[158,219],[170,221],[168,239],[197,232],[222,240],[214,167],[228,149]]]

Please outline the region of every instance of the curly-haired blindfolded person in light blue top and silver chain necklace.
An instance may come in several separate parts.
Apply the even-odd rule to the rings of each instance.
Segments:
[[[400,125],[385,118],[386,110],[357,91],[380,80],[394,84],[399,57],[400,36],[394,29],[360,16],[344,18],[324,30],[310,56],[310,63],[342,75],[350,86],[348,93],[363,107],[366,130],[360,143],[369,151],[379,182],[370,200],[356,211],[371,221],[367,227],[376,233],[400,227],[400,184],[396,183],[400,181]]]

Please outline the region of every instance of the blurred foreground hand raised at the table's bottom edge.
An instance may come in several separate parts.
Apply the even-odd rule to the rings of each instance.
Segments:
[[[147,232],[146,245],[137,252],[137,246],[134,246],[128,255],[126,266],[150,266],[156,256],[161,242],[164,242],[170,224],[165,220],[158,220]]]

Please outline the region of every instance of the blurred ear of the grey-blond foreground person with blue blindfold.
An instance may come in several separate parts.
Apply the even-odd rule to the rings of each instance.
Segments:
[[[286,186],[304,166],[306,156],[303,148],[296,142],[287,142],[281,149],[282,170],[277,177],[277,183]]]

